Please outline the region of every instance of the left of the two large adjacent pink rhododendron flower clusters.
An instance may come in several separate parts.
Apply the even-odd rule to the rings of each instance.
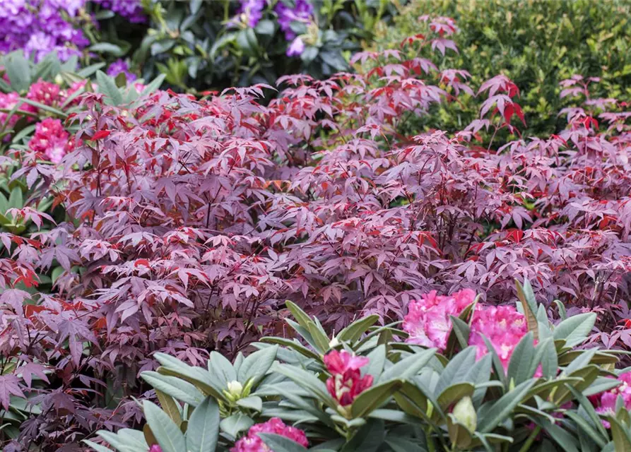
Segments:
[[[423,295],[420,300],[408,304],[408,314],[403,320],[403,331],[410,335],[408,343],[437,347],[444,350],[452,331],[449,316],[459,316],[476,299],[476,292],[464,289],[444,297],[436,291]]]

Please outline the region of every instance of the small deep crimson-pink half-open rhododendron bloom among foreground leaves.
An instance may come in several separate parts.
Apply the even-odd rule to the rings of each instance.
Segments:
[[[356,357],[346,350],[333,350],[324,357],[324,365],[331,377],[326,380],[329,393],[342,406],[350,405],[363,391],[372,386],[372,375],[361,376],[360,367],[370,361]]]

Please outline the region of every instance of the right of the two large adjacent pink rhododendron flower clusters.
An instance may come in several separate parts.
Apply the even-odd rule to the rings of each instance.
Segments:
[[[526,318],[512,306],[480,306],[473,314],[469,345],[478,347],[476,358],[488,353],[483,335],[495,347],[506,369],[519,340],[528,333]]]

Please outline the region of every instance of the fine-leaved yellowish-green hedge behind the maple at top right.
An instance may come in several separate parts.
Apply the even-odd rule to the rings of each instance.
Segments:
[[[412,1],[394,25],[382,26],[373,47],[395,48],[404,37],[425,30],[419,16],[448,16],[459,32],[459,54],[448,50],[441,68],[465,69],[477,89],[485,79],[504,73],[519,86],[526,113],[526,135],[554,133],[565,124],[558,117],[571,99],[559,98],[559,82],[574,73],[601,77],[597,97],[631,99],[631,2],[584,0]],[[441,107],[408,124],[411,130],[432,124],[456,130],[477,114],[477,102]]]

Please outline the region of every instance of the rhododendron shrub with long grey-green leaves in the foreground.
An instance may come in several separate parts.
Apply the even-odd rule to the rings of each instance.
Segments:
[[[158,353],[160,367],[142,377],[155,388],[161,408],[143,403],[142,432],[101,431],[85,443],[100,452],[110,450],[106,444],[121,452],[132,445],[184,452],[200,444],[233,452],[308,446],[478,452],[495,450],[491,444],[510,451],[625,450],[629,373],[615,369],[613,352],[577,347],[596,314],[554,324],[527,281],[517,291],[528,332],[506,369],[494,343],[483,357],[467,345],[462,319],[475,316],[471,309],[453,318],[447,342],[456,346],[439,355],[436,348],[391,340],[406,333],[379,326],[375,315],[328,334],[316,317],[288,302],[294,340],[263,338],[254,344],[257,352],[233,362],[213,352],[201,367]],[[517,312],[487,309],[500,321]],[[351,379],[363,387],[340,384]],[[251,391],[236,391],[242,383]]]

